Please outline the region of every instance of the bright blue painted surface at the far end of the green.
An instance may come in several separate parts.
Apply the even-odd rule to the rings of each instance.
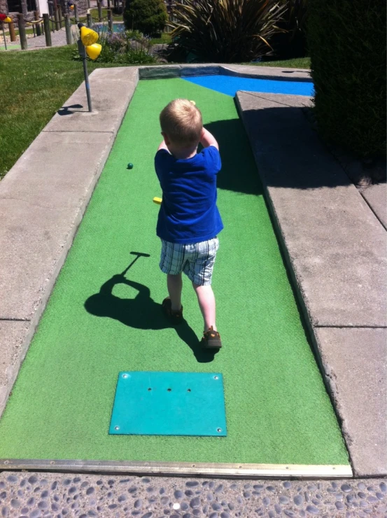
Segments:
[[[267,94],[314,95],[314,85],[309,81],[253,79],[235,76],[193,76],[184,78],[195,85],[235,97],[239,90]]]

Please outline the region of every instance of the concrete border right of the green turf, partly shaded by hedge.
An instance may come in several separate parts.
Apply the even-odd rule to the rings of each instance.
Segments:
[[[311,129],[308,97],[238,92],[277,237],[356,476],[387,474],[387,234]]]

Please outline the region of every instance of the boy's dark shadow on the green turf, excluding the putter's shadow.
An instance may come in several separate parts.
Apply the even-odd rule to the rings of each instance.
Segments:
[[[138,291],[134,299],[122,299],[113,295],[116,284],[126,284]],[[129,281],[124,274],[113,275],[102,284],[99,293],[91,295],[85,302],[85,309],[95,316],[115,318],[124,325],[136,329],[175,328],[178,336],[192,349],[199,363],[211,362],[217,351],[203,349],[195,332],[186,321],[179,325],[171,325],[162,312],[162,305],[150,297],[147,286]]]

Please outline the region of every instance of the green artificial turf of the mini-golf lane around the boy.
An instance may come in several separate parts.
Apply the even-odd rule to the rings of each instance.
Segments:
[[[176,97],[195,99],[223,158],[216,356],[199,347],[188,282],[188,324],[175,330],[160,310],[153,158],[160,110]],[[132,251],[150,257],[123,277]],[[120,370],[222,372],[227,437],[109,436]],[[139,83],[1,420],[1,457],[348,463],[231,97],[182,79]]]

